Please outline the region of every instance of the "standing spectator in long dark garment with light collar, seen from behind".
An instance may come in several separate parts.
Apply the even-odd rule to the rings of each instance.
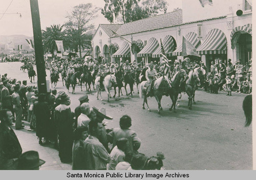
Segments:
[[[54,121],[59,137],[59,158],[62,163],[72,162],[73,120],[69,106],[70,98],[65,92],[58,94],[60,105],[55,108]]]

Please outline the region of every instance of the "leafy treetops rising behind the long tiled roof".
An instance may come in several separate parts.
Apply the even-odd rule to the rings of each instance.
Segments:
[[[119,17],[124,23],[143,19],[166,13],[167,3],[165,0],[144,0],[139,5],[140,0],[104,0],[105,6],[101,13],[111,23]]]

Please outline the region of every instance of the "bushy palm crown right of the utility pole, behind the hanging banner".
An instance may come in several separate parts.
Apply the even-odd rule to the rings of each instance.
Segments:
[[[57,45],[55,40],[66,40],[65,31],[62,31],[63,25],[51,25],[51,27],[47,27],[46,31],[42,30],[42,41],[44,46],[44,52],[54,53],[57,50]],[[66,43],[63,43],[66,44]]]

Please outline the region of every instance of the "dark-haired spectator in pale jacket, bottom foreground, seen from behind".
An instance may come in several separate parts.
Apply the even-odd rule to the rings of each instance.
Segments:
[[[99,141],[102,126],[95,120],[89,122],[89,136],[83,144],[84,161],[86,170],[105,170],[110,162],[109,152]]]

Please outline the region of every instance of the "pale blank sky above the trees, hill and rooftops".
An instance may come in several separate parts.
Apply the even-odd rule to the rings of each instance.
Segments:
[[[181,1],[182,0],[166,0],[168,3],[167,12],[178,7],[181,8]],[[99,8],[104,7],[103,0],[38,0],[41,29],[45,30],[46,27],[50,27],[50,25],[65,23],[67,21],[65,16],[68,12],[72,11],[74,6],[87,3],[92,3]],[[8,8],[9,5],[10,7]],[[3,16],[5,11],[6,14]],[[21,13],[22,18],[19,17],[19,14],[8,13]],[[98,17],[94,20],[95,29],[97,29],[100,23],[110,22],[99,11]],[[33,36],[30,0],[0,0],[0,36],[1,35]]]

